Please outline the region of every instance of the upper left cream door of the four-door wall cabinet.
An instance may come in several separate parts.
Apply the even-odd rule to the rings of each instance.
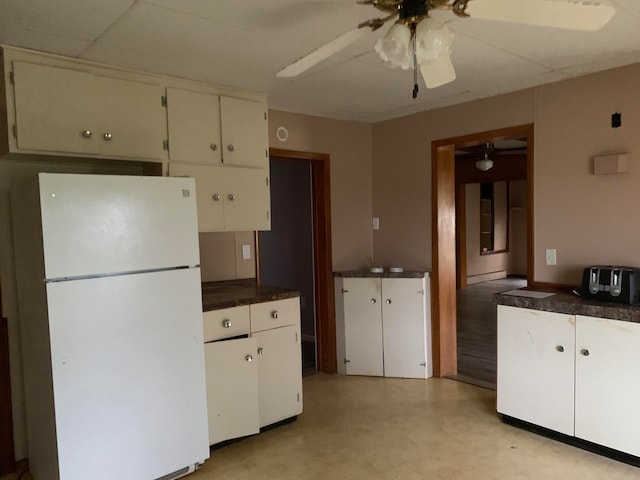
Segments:
[[[220,97],[167,88],[169,160],[220,165]]]

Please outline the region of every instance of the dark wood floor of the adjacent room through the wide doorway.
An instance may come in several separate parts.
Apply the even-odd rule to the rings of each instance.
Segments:
[[[458,378],[495,390],[496,324],[493,295],[527,285],[519,278],[503,278],[458,290]]]

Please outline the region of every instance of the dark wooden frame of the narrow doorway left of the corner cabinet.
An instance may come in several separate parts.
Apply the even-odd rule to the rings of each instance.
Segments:
[[[333,291],[333,257],[331,254],[330,156],[325,153],[270,148],[269,157],[311,164],[317,369],[319,372],[336,373],[336,317]]]

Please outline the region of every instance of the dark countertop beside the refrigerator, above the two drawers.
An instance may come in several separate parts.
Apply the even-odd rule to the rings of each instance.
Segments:
[[[202,310],[208,312],[299,296],[296,290],[256,285],[255,279],[206,282],[202,284]]]

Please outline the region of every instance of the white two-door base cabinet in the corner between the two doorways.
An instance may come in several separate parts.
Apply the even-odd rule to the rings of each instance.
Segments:
[[[338,372],[428,378],[429,277],[337,277]]]

